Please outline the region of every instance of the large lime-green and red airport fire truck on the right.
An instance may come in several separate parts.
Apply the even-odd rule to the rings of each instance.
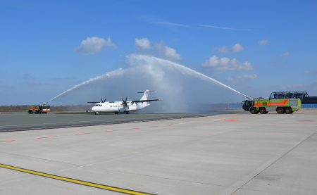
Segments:
[[[276,111],[279,114],[292,114],[302,108],[300,99],[248,99],[242,101],[242,109],[251,114],[267,114],[270,111]]]

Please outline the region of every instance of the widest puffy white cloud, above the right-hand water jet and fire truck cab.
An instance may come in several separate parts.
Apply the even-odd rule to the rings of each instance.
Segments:
[[[236,58],[220,58],[218,56],[212,56],[209,58],[203,66],[211,67],[218,73],[223,73],[227,71],[247,71],[252,70],[253,67],[251,63],[244,62],[241,63],[237,61]]]

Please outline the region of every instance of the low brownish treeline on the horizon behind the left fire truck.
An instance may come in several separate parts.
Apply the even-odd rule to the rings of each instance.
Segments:
[[[0,112],[26,112],[28,105],[0,106]],[[51,112],[90,111],[93,105],[51,106]]]

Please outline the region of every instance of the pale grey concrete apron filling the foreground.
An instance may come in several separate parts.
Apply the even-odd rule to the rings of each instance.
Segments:
[[[1,132],[0,194],[317,194],[316,121],[302,109]]]

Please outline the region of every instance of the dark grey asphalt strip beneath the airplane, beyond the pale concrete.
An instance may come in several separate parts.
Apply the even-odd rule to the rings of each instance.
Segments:
[[[170,120],[177,118],[193,118],[212,114],[182,114],[182,113],[131,113],[99,114],[94,113],[4,113],[0,115],[0,132],[21,130],[42,130],[61,127],[81,127],[91,125],[110,125],[126,122],[141,122],[151,120]]]

